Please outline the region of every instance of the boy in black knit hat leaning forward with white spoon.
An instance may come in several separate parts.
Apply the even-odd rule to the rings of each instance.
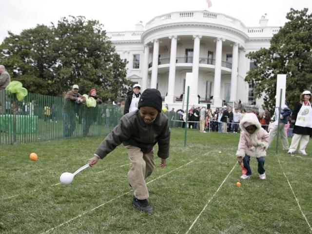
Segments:
[[[104,158],[118,145],[128,150],[132,168],[128,172],[130,186],[134,190],[133,206],[150,213],[153,208],[147,202],[149,193],[145,179],[155,168],[154,145],[158,143],[157,155],[161,158],[160,167],[166,165],[169,156],[170,130],[168,117],[161,112],[162,98],[158,90],[146,89],[138,102],[138,110],[121,117],[119,124],[105,137],[94,157],[88,160],[90,166]]]

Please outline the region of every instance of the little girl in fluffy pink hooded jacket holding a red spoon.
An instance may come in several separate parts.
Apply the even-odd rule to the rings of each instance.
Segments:
[[[240,121],[239,126],[242,132],[240,134],[236,157],[238,163],[243,161],[244,167],[247,170],[246,175],[242,175],[240,178],[249,179],[251,177],[252,171],[250,169],[249,161],[252,156],[256,157],[258,160],[258,173],[260,174],[260,179],[265,179],[265,170],[263,166],[264,156],[267,155],[266,149],[269,146],[269,134],[261,128],[261,124],[254,113],[246,113]]]

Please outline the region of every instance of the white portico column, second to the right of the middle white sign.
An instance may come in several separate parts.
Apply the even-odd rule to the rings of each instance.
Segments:
[[[222,98],[220,97],[221,89],[221,57],[222,55],[222,39],[216,39],[215,48],[215,81],[214,81],[214,106],[222,106]]]

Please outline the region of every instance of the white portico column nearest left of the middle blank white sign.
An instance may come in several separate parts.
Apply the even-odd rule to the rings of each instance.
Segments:
[[[168,78],[168,94],[165,97],[166,103],[173,103],[175,98],[175,80],[176,80],[176,36],[171,36],[171,51],[170,51],[170,67]]]

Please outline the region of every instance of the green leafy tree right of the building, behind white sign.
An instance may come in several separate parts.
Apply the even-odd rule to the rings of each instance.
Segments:
[[[262,48],[247,55],[255,68],[245,78],[254,85],[257,97],[264,96],[264,108],[275,107],[277,74],[286,74],[286,100],[293,108],[304,90],[312,88],[312,14],[308,9],[287,13],[289,20],[271,39],[269,49]]]

